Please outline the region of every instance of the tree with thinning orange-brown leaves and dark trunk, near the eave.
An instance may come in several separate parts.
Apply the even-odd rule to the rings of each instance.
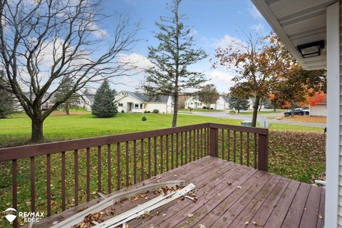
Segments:
[[[269,36],[249,33],[246,41],[232,41],[217,48],[215,56],[219,65],[234,72],[234,90],[254,98],[252,126],[255,127],[260,100],[273,90],[279,77],[294,64],[294,58],[274,33]]]

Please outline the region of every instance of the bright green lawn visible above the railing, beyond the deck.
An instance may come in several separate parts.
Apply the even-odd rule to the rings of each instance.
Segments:
[[[147,121],[145,122],[141,120],[144,115],[147,117]],[[152,113],[118,113],[114,118],[95,118],[91,114],[51,115],[44,122],[44,135],[47,142],[90,138],[103,135],[170,128],[171,121],[171,114]],[[241,120],[211,118],[198,115],[178,115],[178,125],[191,125],[207,122],[240,125]],[[321,131],[320,128],[275,123],[271,124],[270,129]],[[16,114],[9,118],[0,119],[0,147],[24,145],[28,142],[30,134],[31,120],[24,114]]]

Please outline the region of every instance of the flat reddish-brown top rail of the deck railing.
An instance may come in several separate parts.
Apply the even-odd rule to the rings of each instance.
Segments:
[[[136,133],[125,133],[121,135],[108,135],[97,138],[85,138],[80,140],[68,140],[61,142],[48,142],[36,145],[24,145],[19,147],[0,148],[0,162],[6,160],[15,160],[28,157],[36,157],[39,155],[48,155],[56,152],[68,150],[78,150],[88,147],[97,147],[99,145],[108,145],[118,142],[126,142],[132,140],[141,140],[144,138],[153,138],[162,135],[170,135],[181,133],[189,130],[197,130],[200,128],[223,128],[229,130],[237,130],[242,132],[256,133],[268,135],[268,130],[264,128],[250,128],[238,125],[224,125],[219,123],[200,123],[196,125],[185,125],[176,128],[165,128],[159,130],[148,130]]]

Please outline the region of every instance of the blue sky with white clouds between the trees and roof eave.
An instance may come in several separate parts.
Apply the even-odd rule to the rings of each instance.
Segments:
[[[155,22],[160,21],[160,16],[171,15],[167,4],[170,0],[105,0],[101,11],[113,18],[98,26],[110,39],[113,37],[110,28],[117,12],[128,16],[132,25],[139,24],[138,42],[130,53],[125,53],[125,58],[140,69],[147,68],[151,64],[147,59],[148,46],[158,45],[153,33],[158,32]],[[212,68],[210,59],[215,59],[215,48],[229,44],[232,39],[244,41],[244,31],[266,35],[271,31],[270,26],[249,0],[183,0],[180,13],[187,16],[185,24],[190,26],[197,48],[203,48],[209,55],[191,69],[203,72],[219,93],[228,93],[229,87],[234,85],[233,75],[227,68]],[[134,76],[115,78],[111,87],[117,91],[135,91],[144,76],[143,71],[137,71]]]

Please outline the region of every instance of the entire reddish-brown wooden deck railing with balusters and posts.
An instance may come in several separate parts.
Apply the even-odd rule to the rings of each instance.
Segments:
[[[120,190],[207,155],[267,171],[267,137],[263,128],[202,123],[3,148],[0,165],[7,184],[0,195],[19,211],[50,216],[96,198],[97,192]]]

